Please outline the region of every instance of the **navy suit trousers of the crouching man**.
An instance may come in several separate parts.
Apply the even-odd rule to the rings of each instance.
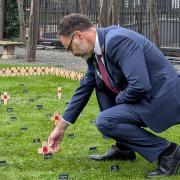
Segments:
[[[101,133],[131,148],[150,162],[169,146],[169,141],[147,131],[133,105],[116,105],[116,95],[108,89],[96,91],[100,114],[96,126]]]

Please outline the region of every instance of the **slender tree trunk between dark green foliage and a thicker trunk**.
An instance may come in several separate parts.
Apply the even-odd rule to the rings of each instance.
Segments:
[[[21,41],[26,45],[26,26],[24,20],[24,8],[23,0],[17,0],[18,10],[19,10],[19,24],[20,24],[20,35]]]

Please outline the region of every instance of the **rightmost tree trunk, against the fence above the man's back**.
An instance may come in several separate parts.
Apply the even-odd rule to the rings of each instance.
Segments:
[[[150,8],[150,22],[151,22],[151,33],[154,44],[159,48],[159,32],[158,32],[158,23],[157,23],[157,0],[149,1]]]

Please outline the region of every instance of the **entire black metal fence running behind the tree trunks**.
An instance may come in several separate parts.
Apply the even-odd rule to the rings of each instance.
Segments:
[[[116,0],[117,25],[139,32],[152,40],[148,0]],[[180,48],[180,0],[158,0],[160,44]],[[86,0],[86,14],[97,24],[99,0]],[[28,24],[30,2],[26,0]],[[58,23],[64,15],[80,13],[79,0],[41,0],[39,40],[56,41]],[[27,34],[28,36],[28,34]]]

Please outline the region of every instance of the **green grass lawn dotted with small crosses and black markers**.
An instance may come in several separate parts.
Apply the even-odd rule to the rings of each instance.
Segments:
[[[19,83],[24,83],[25,86],[20,87]],[[78,81],[55,76],[0,77],[0,92],[7,91],[11,95],[8,106],[0,105],[0,160],[7,161],[6,166],[0,166],[0,179],[55,180],[59,174],[68,173],[69,179],[75,180],[139,180],[154,170],[156,165],[148,163],[139,155],[136,162],[88,160],[90,146],[97,146],[97,152],[102,153],[114,143],[113,140],[102,139],[95,125],[90,123],[98,114],[94,94],[76,124],[67,129],[62,150],[50,160],[44,160],[37,153],[41,144],[33,144],[33,139],[45,141],[54,126],[47,120],[46,113],[58,111],[62,114],[78,85]],[[61,100],[56,97],[58,86],[62,87]],[[22,93],[23,89],[28,89],[28,93]],[[29,103],[30,98],[35,98],[35,102]],[[44,109],[37,110],[38,104],[43,104]],[[7,107],[13,107],[14,111],[6,112]],[[16,115],[17,120],[11,121],[11,115]],[[21,127],[27,127],[28,130],[20,131]],[[68,133],[74,133],[75,137],[67,137]],[[180,143],[178,126],[160,135]],[[109,171],[114,164],[119,164],[119,172]],[[180,179],[180,173],[175,177],[162,179]]]

